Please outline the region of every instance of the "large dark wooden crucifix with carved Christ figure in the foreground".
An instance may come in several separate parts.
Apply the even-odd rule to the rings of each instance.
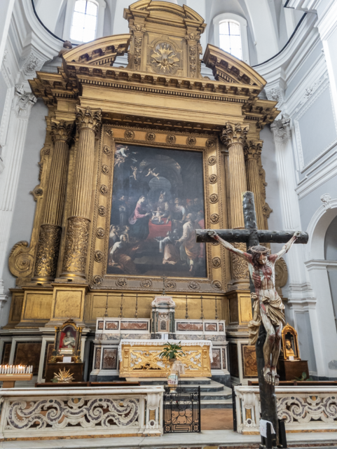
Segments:
[[[259,376],[261,419],[271,422],[275,429],[276,444],[279,444],[279,425],[275,385],[279,383],[276,364],[280,355],[284,305],[275,289],[275,262],[289,251],[293,243],[308,243],[308,233],[300,231],[258,230],[254,205],[254,194],[243,195],[245,229],[197,229],[197,242],[218,240],[229,251],[245,258],[249,267],[250,291],[253,304],[253,319],[249,322],[249,343],[256,344],[256,361]],[[240,251],[230,242],[245,242],[247,252]],[[277,254],[270,254],[263,243],[285,243]]]

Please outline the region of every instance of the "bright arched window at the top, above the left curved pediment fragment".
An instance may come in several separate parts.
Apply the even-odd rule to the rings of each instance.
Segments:
[[[90,0],[76,0],[71,21],[71,41],[89,42],[96,36],[97,4]]]

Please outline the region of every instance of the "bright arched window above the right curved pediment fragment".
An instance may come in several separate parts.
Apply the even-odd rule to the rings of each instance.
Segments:
[[[247,20],[238,14],[223,13],[213,19],[214,45],[249,64]]]

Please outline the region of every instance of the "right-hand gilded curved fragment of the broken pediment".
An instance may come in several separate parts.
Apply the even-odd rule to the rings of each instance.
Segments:
[[[209,69],[212,69],[214,78],[217,81],[256,85],[256,88],[259,88],[259,90],[262,90],[267,83],[248,64],[216,46],[208,44],[204,55],[204,62]]]

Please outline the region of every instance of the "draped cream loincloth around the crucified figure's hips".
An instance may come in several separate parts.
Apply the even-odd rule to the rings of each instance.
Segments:
[[[259,298],[259,296],[255,295],[255,301],[253,305],[253,319],[249,322],[249,345],[255,345],[257,338],[259,337],[259,330],[261,326],[261,309],[260,303],[266,308],[266,316],[270,319],[270,322],[274,326],[284,325],[285,317],[284,317],[284,304],[282,303],[282,299],[280,296],[275,295],[274,299],[267,298],[263,296]]]

